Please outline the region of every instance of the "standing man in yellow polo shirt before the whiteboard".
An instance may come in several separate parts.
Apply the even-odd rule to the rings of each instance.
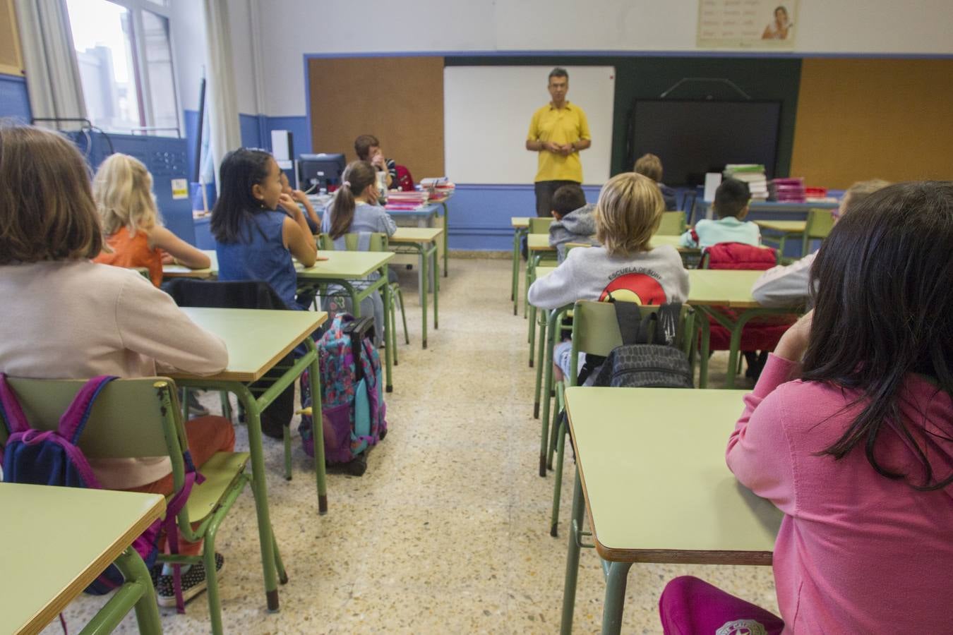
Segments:
[[[592,145],[586,113],[566,100],[569,73],[553,69],[549,73],[549,104],[533,113],[526,149],[539,153],[536,176],[537,216],[553,211],[553,192],[560,186],[582,183],[579,150]]]

